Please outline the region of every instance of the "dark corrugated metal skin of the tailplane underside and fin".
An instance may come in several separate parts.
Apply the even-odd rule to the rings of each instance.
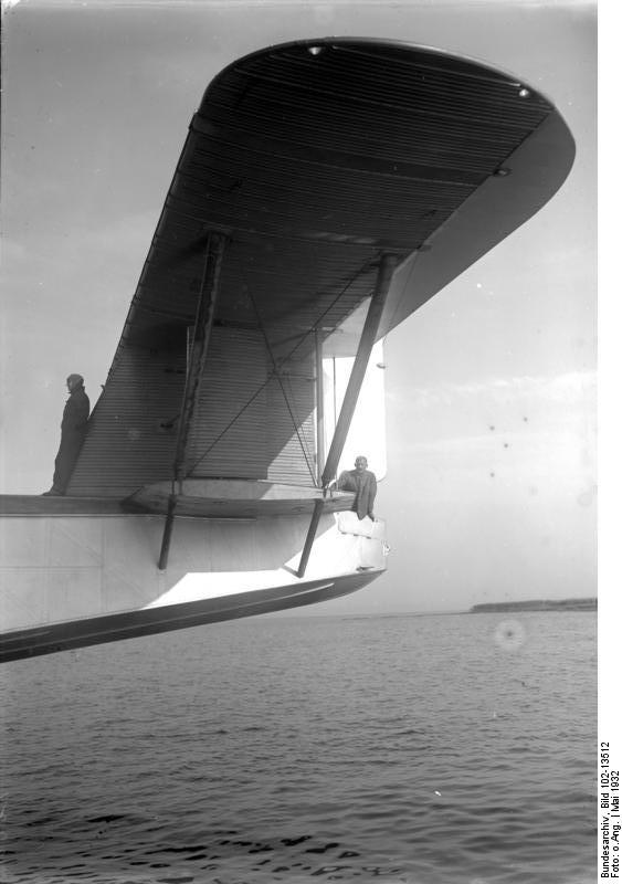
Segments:
[[[329,334],[370,294],[380,255],[422,246],[552,110],[440,52],[318,45],[256,53],[208,88],[70,493],[128,494],[171,475],[175,433],[160,424],[179,412],[183,375],[165,366],[182,370],[210,230],[228,244],[189,460],[209,450],[201,475],[308,475],[274,380],[213,444],[271,370],[257,314],[282,369],[304,375],[313,329]],[[313,383],[289,383],[313,461]]]

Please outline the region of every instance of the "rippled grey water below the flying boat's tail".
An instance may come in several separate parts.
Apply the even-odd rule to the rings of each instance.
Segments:
[[[594,880],[595,614],[255,618],[0,667],[2,881]]]

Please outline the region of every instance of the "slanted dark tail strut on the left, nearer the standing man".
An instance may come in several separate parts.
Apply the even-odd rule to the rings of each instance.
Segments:
[[[168,564],[170,540],[172,537],[172,523],[175,519],[175,508],[177,505],[177,494],[181,493],[181,483],[186,475],[186,451],[190,434],[190,422],[199,397],[201,378],[205,367],[205,358],[210,343],[210,335],[214,322],[215,305],[218,299],[218,284],[222,255],[224,252],[225,238],[222,233],[211,232],[208,235],[205,246],[205,260],[203,263],[203,276],[197,314],[194,317],[194,328],[192,344],[188,358],[188,370],[186,372],[186,387],[181,402],[181,413],[179,418],[177,448],[175,452],[172,491],[169,496],[165,532],[160,547],[160,558],[158,568],[164,571]]]

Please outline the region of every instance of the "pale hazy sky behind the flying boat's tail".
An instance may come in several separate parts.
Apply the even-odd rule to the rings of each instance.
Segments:
[[[50,486],[70,372],[97,398],[210,80],[270,43],[325,35],[496,65],[552,99],[577,143],[552,200],[388,338],[377,513],[390,571],[326,612],[592,596],[592,3],[13,6],[3,17],[0,492]]]

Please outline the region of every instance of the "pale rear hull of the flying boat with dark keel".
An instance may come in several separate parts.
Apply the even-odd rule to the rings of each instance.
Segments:
[[[370,538],[339,530],[337,519],[334,514],[321,517],[301,579],[296,568],[306,514],[180,517],[166,571],[157,567],[162,516],[4,515],[0,662],[354,592],[384,570],[383,525]]]

